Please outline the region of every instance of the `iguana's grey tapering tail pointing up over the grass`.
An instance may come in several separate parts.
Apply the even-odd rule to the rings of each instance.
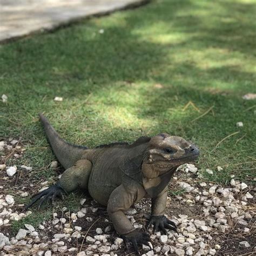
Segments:
[[[65,140],[59,137],[58,133],[53,129],[43,114],[39,114],[39,117],[59,163],[62,164],[65,169],[73,166],[76,161],[81,159],[87,147],[72,145],[65,142]]]

